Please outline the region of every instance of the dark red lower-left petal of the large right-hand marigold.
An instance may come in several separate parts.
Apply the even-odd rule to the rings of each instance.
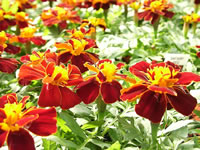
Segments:
[[[147,91],[141,96],[135,111],[138,115],[149,119],[153,123],[159,123],[167,108],[164,94]]]

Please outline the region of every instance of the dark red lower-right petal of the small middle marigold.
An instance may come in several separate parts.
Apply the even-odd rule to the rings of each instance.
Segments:
[[[112,104],[120,100],[121,84],[117,81],[104,82],[101,85],[101,95],[105,103]]]

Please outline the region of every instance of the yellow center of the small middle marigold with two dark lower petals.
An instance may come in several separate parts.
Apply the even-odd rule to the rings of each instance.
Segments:
[[[106,77],[106,81],[112,82],[112,80],[115,78],[114,75],[117,71],[117,67],[109,62],[104,62],[99,65],[99,68],[103,75]]]

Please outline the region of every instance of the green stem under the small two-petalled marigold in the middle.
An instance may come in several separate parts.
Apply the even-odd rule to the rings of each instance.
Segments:
[[[106,104],[102,100],[101,96],[97,98],[96,102],[97,102],[97,108],[98,108],[98,121],[101,121],[104,119],[104,116],[105,116]]]

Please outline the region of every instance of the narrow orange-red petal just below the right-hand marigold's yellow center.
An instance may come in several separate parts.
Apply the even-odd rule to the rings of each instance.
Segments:
[[[154,91],[156,93],[160,93],[160,94],[165,93],[165,94],[170,94],[170,95],[173,95],[173,96],[177,95],[176,91],[173,88],[160,87],[160,86],[157,86],[157,85],[150,85],[150,86],[148,86],[148,89],[151,90],[151,91]]]

